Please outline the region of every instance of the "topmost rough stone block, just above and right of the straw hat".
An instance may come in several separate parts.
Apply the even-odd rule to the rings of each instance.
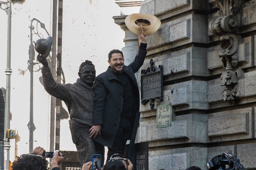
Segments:
[[[174,11],[188,5],[189,0],[156,0],[156,15]]]

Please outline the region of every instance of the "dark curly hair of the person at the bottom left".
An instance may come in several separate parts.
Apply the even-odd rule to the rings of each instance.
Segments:
[[[23,154],[12,163],[12,170],[49,170],[48,164],[42,157]]]

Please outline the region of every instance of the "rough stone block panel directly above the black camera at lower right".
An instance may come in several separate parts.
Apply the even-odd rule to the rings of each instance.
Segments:
[[[235,145],[208,148],[208,161],[212,159],[213,156],[221,155],[222,153],[235,154]]]

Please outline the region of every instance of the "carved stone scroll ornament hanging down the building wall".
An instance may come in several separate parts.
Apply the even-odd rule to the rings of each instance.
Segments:
[[[219,57],[226,71],[220,77],[220,86],[225,86],[223,100],[229,104],[234,104],[235,99],[240,96],[237,82],[244,75],[243,70],[236,68],[237,49],[241,39],[238,33],[239,14],[237,12],[243,2],[243,0],[215,0],[217,8],[220,9],[218,11],[220,17],[209,23],[211,33],[218,35],[221,43]]]

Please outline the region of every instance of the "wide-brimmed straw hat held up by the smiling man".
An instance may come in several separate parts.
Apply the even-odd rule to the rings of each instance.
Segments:
[[[125,18],[125,24],[130,31],[137,35],[140,35],[141,29],[144,35],[151,35],[161,26],[161,21],[154,15],[137,13],[128,15]]]

